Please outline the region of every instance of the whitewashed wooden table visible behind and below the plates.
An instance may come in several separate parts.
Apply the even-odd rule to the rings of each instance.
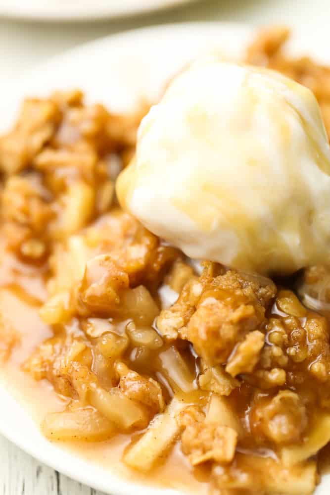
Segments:
[[[175,11],[118,22],[56,25],[0,20],[0,91],[51,55],[126,29],[165,22],[224,20],[308,26],[317,35],[318,27],[328,22],[324,15],[328,10],[329,0],[200,0]],[[40,464],[0,436],[0,495],[104,494]]]

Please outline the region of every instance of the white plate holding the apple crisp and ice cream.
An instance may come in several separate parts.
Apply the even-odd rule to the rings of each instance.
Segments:
[[[21,79],[19,86],[0,95],[0,130],[13,121],[23,97],[46,95],[53,89],[79,87],[91,101],[101,101],[115,110],[132,108],[143,95],[157,98],[168,77],[198,53],[216,49],[239,56],[252,34],[250,28],[237,24],[176,24],[132,31],[74,49],[37,68]],[[326,59],[327,45],[320,43],[326,38],[318,34],[316,38],[307,31],[306,36],[293,41],[291,49],[302,48],[306,52],[309,47],[313,56],[330,62],[329,55]],[[0,433],[41,462],[106,493],[179,494],[119,479],[111,471],[50,444],[3,385],[0,385]],[[316,493],[329,495],[330,475],[322,478]]]

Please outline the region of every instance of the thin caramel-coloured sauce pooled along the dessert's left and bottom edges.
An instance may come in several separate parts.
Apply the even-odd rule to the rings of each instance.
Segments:
[[[46,380],[35,381],[21,369],[22,363],[38,345],[53,335],[51,328],[41,321],[36,303],[36,299],[42,300],[45,294],[43,274],[36,270],[30,277],[25,276],[21,284],[22,275],[15,275],[17,265],[13,259],[7,258],[3,266],[2,276],[3,273],[7,275],[1,280],[0,309],[4,308],[7,322],[18,332],[19,341],[12,348],[9,358],[1,363],[0,381],[40,425],[48,412],[61,411],[69,402],[68,398],[56,394]],[[30,291],[25,292],[29,280]],[[166,379],[163,377],[163,380]],[[169,384],[168,388],[171,391]],[[117,434],[103,442],[56,442],[56,445],[131,482],[178,489],[190,494],[207,494],[207,470],[198,469],[197,476],[192,476],[192,468],[181,453],[179,444],[151,473],[141,474],[121,462],[130,441],[131,435]]]

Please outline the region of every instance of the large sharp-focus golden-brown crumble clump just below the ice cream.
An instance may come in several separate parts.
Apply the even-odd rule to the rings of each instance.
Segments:
[[[160,314],[157,325],[167,337],[178,332],[187,338],[214,366],[226,362],[249,331],[265,327],[275,286],[233,271],[212,277],[210,270],[206,267],[198,281],[188,282],[172,308]]]

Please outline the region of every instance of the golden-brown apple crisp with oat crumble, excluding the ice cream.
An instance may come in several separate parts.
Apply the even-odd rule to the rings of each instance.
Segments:
[[[246,61],[312,89],[330,132],[330,69],[288,58],[287,37],[261,33]],[[146,111],[118,116],[58,92],[25,100],[0,138],[2,287],[19,286],[52,330],[23,368],[70,399],[42,429],[85,441],[142,430],[123,462],[143,472],[179,443],[213,495],[311,494],[330,441],[327,311],[208,261],[198,275],[120,210],[114,182]],[[327,268],[303,277],[307,295],[327,304]],[[164,289],[178,294],[169,307]],[[3,315],[2,359],[19,333]]]

